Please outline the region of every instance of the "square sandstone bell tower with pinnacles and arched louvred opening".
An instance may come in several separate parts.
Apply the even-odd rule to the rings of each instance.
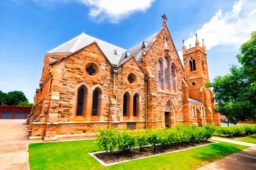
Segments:
[[[196,34],[195,46],[191,47],[189,45],[189,48],[186,49],[183,42],[182,52],[185,80],[189,87],[189,98],[204,103],[207,124],[219,125],[219,114],[214,112],[213,93],[210,88],[205,87],[205,83],[210,80],[204,39],[202,39],[202,46],[200,46]]]

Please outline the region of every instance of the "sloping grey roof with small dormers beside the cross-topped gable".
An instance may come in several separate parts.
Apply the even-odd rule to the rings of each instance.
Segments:
[[[156,40],[157,33],[158,32],[156,32],[155,34],[153,34],[152,36],[148,37],[144,41],[141,41],[137,45],[132,46],[132,48],[127,50],[127,52],[129,53],[127,58],[125,58],[125,53],[126,52],[122,53],[122,57],[121,57],[118,65],[122,64],[123,62],[125,62],[125,60],[129,59],[129,57],[132,57],[132,56],[134,56],[137,61],[140,60],[142,52],[143,51],[146,52],[148,50],[148,47]],[[145,46],[145,48],[142,48],[143,46]]]

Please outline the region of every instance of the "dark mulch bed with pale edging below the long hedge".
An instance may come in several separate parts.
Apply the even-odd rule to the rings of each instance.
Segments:
[[[167,145],[164,148],[160,148],[160,146],[157,146],[156,150],[154,150],[154,146],[146,146],[143,148],[143,150],[140,150],[140,148],[134,148],[130,150],[129,152],[120,152],[120,151],[114,151],[114,152],[101,152],[101,153],[94,153],[98,159],[102,160],[106,164],[111,164],[114,162],[121,162],[124,160],[131,160],[131,159],[138,159],[141,157],[148,157],[150,155],[157,155],[161,153],[168,153],[173,152],[176,150],[183,150],[186,148],[192,148],[195,146],[205,145],[208,143],[212,143],[211,141],[205,141],[203,143],[190,143],[188,145]]]

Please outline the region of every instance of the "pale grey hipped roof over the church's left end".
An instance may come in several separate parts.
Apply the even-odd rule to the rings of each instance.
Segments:
[[[93,42],[97,43],[97,45],[102,50],[104,55],[108,58],[109,62],[111,62],[111,64],[117,65],[122,56],[122,53],[125,53],[127,51],[124,48],[112,45],[82,32],[82,34],[80,34],[79,36],[71,39],[70,41],[67,41],[66,43],[63,43],[60,46],[57,46],[56,48],[52,49],[47,53],[74,53],[78,50],[81,50],[81,48],[84,48],[84,46],[90,45]]]

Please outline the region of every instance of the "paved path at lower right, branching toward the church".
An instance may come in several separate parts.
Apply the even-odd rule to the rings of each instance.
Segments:
[[[243,150],[241,152],[233,153],[232,155],[228,155],[227,157],[216,160],[207,164],[203,167],[198,168],[197,170],[255,170],[256,169],[256,145],[252,143],[245,143],[241,141],[234,141],[230,139],[223,138],[215,138],[212,137],[216,141],[224,141],[228,143],[235,143],[239,145],[250,146],[247,150]]]

